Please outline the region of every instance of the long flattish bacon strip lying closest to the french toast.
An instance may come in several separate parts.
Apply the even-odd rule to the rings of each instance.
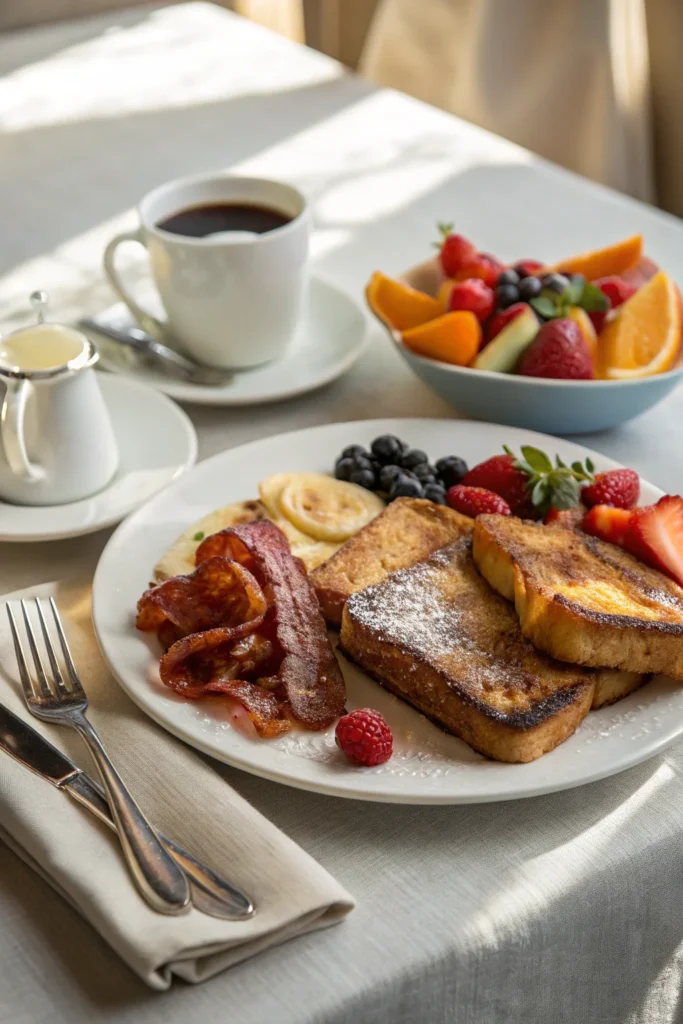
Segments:
[[[220,556],[245,566],[265,594],[264,627],[273,624],[284,654],[278,675],[292,714],[310,729],[327,728],[343,714],[345,686],[303,563],[268,520],[208,537],[198,548],[197,564]]]

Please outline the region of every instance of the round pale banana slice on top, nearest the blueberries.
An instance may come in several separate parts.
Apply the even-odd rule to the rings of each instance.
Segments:
[[[275,493],[281,514],[316,541],[347,541],[384,508],[372,492],[324,473],[292,473],[271,484],[269,497]]]

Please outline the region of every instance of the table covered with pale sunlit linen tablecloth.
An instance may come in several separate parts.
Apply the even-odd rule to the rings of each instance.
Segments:
[[[539,90],[543,102],[542,79]],[[359,304],[374,270],[429,255],[437,221],[502,258],[549,262],[642,232],[683,284],[676,218],[221,7],[134,6],[0,36],[2,330],[26,318],[37,288],[62,321],[111,304],[102,250],[135,225],[138,200],[223,169],[297,185],[315,272]],[[143,273],[134,250],[124,263],[131,280]],[[454,435],[458,424],[370,318],[361,357],[334,383],[186,412],[200,459],[324,423],[433,417]],[[682,420],[679,389],[582,441],[677,493]],[[92,577],[111,532],[0,545],[0,591]],[[461,806],[342,800],[213,764],[355,910],[159,993],[0,844],[0,1024],[682,1019],[683,742],[590,785]]]

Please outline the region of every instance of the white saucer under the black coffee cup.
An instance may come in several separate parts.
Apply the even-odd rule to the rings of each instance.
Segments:
[[[120,328],[134,324],[123,303],[106,310],[103,318]],[[91,333],[91,337],[97,344],[98,336]],[[124,372],[119,365],[108,361],[104,347],[101,359],[106,369],[143,381],[178,401],[201,406],[252,406],[293,398],[336,380],[356,361],[365,338],[366,318],[355,302],[334,285],[311,278],[302,323],[286,354],[274,362],[236,373],[230,382],[221,387],[176,381],[145,368],[135,370],[134,374]]]

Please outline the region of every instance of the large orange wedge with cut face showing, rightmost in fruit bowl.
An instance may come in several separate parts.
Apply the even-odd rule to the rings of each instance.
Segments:
[[[664,270],[639,288],[598,339],[601,376],[651,377],[671,370],[681,343],[678,290]]]

